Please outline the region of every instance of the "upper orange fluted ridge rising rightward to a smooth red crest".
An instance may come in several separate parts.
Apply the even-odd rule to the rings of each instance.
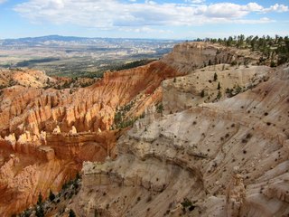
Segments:
[[[181,75],[162,61],[127,71],[107,72],[103,80],[83,89],[42,90],[14,86],[1,95],[1,135],[24,131],[40,135],[56,126],[69,132],[72,126],[80,132],[107,130],[118,107],[134,100],[136,114],[147,105],[160,101],[157,88],[162,80]],[[133,109],[134,109],[133,108]]]

